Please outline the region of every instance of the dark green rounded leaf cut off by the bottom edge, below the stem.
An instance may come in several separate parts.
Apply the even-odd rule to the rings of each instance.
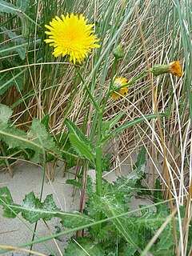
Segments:
[[[76,240],[75,240],[76,241]],[[92,242],[89,238],[80,238],[77,240],[78,243],[70,240],[66,250],[66,256],[104,256],[106,255],[102,247]],[[79,245],[80,246],[79,246]],[[83,248],[83,249],[82,249]]]

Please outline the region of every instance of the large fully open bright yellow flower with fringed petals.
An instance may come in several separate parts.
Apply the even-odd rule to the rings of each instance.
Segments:
[[[81,64],[92,48],[100,47],[95,44],[99,39],[93,34],[94,24],[86,24],[87,21],[82,14],[62,14],[62,19],[56,16],[50,26],[45,25],[50,30],[45,32],[49,35],[45,42],[54,46],[54,57],[70,55],[70,62],[75,64],[77,60]]]

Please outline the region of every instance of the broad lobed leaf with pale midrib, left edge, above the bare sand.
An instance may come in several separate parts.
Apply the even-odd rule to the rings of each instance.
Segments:
[[[0,139],[4,144],[5,149],[11,150],[11,153],[20,154],[32,157],[34,162],[41,162],[41,155],[47,151],[49,154],[59,156],[61,155],[57,146],[55,145],[54,138],[46,130],[37,118],[33,119],[32,125],[28,132],[16,129],[9,122],[12,110],[6,105],[0,105]]]

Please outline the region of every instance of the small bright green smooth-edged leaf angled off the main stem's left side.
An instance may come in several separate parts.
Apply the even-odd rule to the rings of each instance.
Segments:
[[[69,135],[70,142],[74,145],[75,150],[78,151],[82,157],[87,158],[91,162],[94,162],[94,154],[91,152],[90,146],[84,144],[84,142],[80,141],[76,134]]]

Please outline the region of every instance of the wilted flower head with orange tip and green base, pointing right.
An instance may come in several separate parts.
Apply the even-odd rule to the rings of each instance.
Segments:
[[[182,67],[178,61],[171,62],[169,65],[154,65],[151,72],[154,75],[170,73],[182,77]]]

